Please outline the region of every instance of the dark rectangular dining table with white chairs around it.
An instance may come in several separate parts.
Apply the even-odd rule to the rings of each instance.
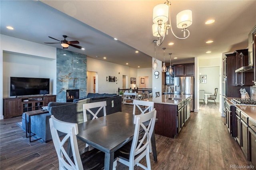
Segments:
[[[104,169],[112,170],[114,152],[133,139],[134,115],[124,112],[116,112],[104,117],[99,117],[78,124],[79,140],[90,146],[105,152]],[[156,140],[154,132],[151,137],[154,161],[157,161]]]

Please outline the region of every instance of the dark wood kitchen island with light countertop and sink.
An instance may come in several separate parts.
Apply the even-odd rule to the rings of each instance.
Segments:
[[[190,117],[191,95],[160,95],[148,99],[156,108],[155,133],[174,138]]]

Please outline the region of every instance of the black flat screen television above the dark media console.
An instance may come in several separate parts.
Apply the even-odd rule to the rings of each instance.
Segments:
[[[10,96],[50,94],[50,79],[10,77]]]

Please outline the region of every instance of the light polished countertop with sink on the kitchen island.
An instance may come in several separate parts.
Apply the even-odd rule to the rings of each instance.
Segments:
[[[148,101],[153,101],[154,103],[160,103],[160,104],[168,104],[168,105],[178,105],[182,101],[184,101],[187,98],[190,98],[191,95],[160,95],[160,97],[153,97],[151,99],[145,99]]]

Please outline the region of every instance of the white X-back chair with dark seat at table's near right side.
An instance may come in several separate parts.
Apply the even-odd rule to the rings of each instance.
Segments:
[[[148,126],[143,123],[149,122]],[[134,166],[140,166],[145,170],[151,170],[150,164],[150,139],[156,122],[156,110],[153,109],[147,114],[134,116],[134,136],[132,142],[128,142],[115,152],[118,162],[129,166],[129,170],[133,170]],[[142,129],[141,129],[142,128]],[[144,135],[139,139],[139,134],[144,132]],[[147,166],[140,163],[142,158],[146,157]]]

